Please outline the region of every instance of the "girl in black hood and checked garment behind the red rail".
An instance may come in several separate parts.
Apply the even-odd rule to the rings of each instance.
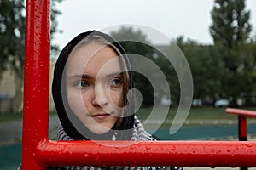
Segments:
[[[119,42],[100,31],[81,33],[63,48],[52,84],[61,122],[58,140],[155,140],[134,115],[130,66]],[[54,167],[151,168],[163,167]]]

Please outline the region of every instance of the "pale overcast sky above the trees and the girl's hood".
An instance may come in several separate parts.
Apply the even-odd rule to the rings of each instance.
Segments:
[[[149,31],[158,31],[169,39],[183,35],[197,42],[212,43],[209,26],[212,23],[210,12],[213,2],[213,0],[65,0],[56,7],[62,12],[58,16],[58,22],[63,33],[56,35],[55,43],[63,48],[80,32],[109,31],[117,25],[127,24],[144,28],[143,31],[147,28]],[[247,9],[251,10],[250,23],[253,25],[253,35],[256,35],[256,1],[247,0]],[[166,39],[151,37],[151,41],[164,43]]]

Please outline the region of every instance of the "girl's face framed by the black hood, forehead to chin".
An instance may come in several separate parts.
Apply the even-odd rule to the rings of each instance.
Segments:
[[[112,48],[91,42],[67,59],[67,102],[92,133],[107,133],[123,106],[123,74]]]

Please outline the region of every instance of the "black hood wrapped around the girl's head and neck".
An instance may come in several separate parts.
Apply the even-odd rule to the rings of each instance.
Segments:
[[[83,130],[86,132],[86,137],[81,133],[80,129],[81,127],[78,127],[76,125],[73,125],[74,122],[78,122],[79,124],[82,124],[82,122],[79,121],[79,118],[75,116],[74,122],[71,122],[70,116],[73,115],[73,112],[70,110],[67,104],[66,100],[66,92],[65,92],[65,84],[62,80],[62,75],[65,69],[65,65],[67,63],[67,58],[69,54],[71,53],[72,49],[84,38],[89,36],[90,34],[96,34],[97,36],[101,36],[104,39],[106,39],[108,42],[112,43],[113,46],[119,49],[120,53],[125,59],[125,64],[128,69],[128,74],[130,78],[130,84],[129,88],[132,87],[132,77],[131,77],[131,65],[128,59],[127,54],[125,54],[124,48],[121,47],[119,42],[116,42],[112,37],[109,37],[107,34],[104,34],[100,31],[87,31],[84,33],[79,34],[77,37],[74,37],[73,40],[67,43],[66,47],[62,49],[61,54],[59,55],[59,58],[57,59],[55,63],[55,71],[54,71],[54,78],[52,83],[52,95],[55,102],[55,108],[58,113],[59,119],[61,121],[61,126],[64,128],[65,132],[68,136],[70,136],[73,139],[89,139],[88,135],[91,136],[90,139],[109,139],[110,136],[113,135],[113,131],[109,131],[109,133],[105,133],[102,135],[96,135],[94,133],[91,133],[88,128],[83,126]],[[64,92],[63,92],[64,91]],[[132,99],[129,99],[129,102],[133,103]],[[65,105],[65,106],[64,106]],[[134,125],[134,106],[128,105],[128,108],[125,111],[125,115],[123,117],[123,121],[121,123],[119,131],[119,135],[117,139],[130,139],[132,128]],[[68,113],[68,114],[67,114]],[[76,124],[76,123],[75,123]],[[114,128],[114,127],[113,127]]]

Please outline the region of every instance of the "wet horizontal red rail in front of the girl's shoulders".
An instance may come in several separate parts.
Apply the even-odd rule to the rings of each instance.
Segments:
[[[256,167],[256,142],[45,140],[37,150],[47,165]]]

